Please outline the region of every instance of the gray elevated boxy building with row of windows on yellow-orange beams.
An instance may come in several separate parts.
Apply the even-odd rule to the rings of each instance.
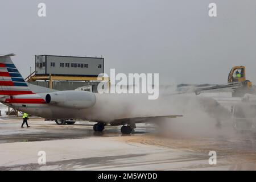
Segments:
[[[97,92],[100,73],[104,73],[103,57],[35,55],[35,71],[26,81],[56,90]]]

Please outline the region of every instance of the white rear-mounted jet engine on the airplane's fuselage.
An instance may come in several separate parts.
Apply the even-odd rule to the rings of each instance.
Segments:
[[[92,92],[68,90],[48,93],[46,103],[61,107],[86,109],[96,102],[96,96]]]

